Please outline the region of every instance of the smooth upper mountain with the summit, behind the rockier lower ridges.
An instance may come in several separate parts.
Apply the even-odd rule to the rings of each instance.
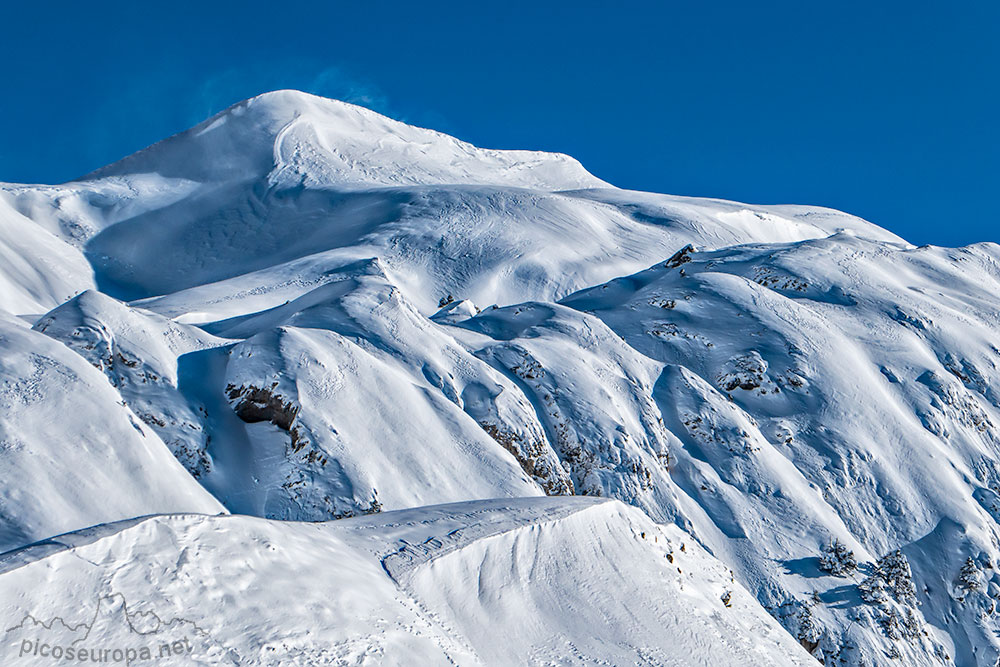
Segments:
[[[202,321],[259,310],[268,296],[280,304],[325,271],[370,257],[427,309],[449,294],[484,304],[565,296],[689,242],[801,240],[839,229],[899,240],[826,209],[594,188],[607,184],[565,156],[486,151],[283,91],[81,181],[4,186],[2,195],[82,248],[112,296],[194,288],[151,305],[170,316],[191,311],[189,298],[204,304],[209,291],[212,302],[228,302],[226,313]],[[232,303],[250,290],[253,305]]]

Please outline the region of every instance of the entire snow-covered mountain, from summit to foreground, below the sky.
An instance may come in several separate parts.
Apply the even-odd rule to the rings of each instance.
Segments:
[[[155,614],[198,664],[1000,656],[995,244],[282,91],[0,186],[0,259],[11,646],[90,610],[77,648]]]

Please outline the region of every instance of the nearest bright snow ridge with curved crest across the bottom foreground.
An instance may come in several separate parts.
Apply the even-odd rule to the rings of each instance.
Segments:
[[[10,664],[50,664],[40,643],[171,665],[814,664],[688,536],[617,502],[151,517],[0,568]]]

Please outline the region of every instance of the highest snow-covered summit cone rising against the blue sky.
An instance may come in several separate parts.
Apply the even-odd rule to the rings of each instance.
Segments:
[[[477,148],[364,107],[294,90],[240,102],[85,179],[142,173],[199,182],[266,177],[279,187],[610,187],[567,155]]]

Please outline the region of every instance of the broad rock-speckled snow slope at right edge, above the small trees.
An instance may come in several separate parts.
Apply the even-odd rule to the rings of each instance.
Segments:
[[[835,610],[842,582],[824,592],[805,567],[810,541],[847,539],[806,518],[832,511],[872,556],[902,548],[924,618],[948,632],[959,664],[989,664],[992,611],[969,605],[994,604],[970,603],[956,582],[967,559],[988,577],[1000,557],[998,259],[993,244],[906,248],[841,234],[688,250],[564,303],[678,365],[654,396],[684,443],[675,478],[725,535],[698,528],[717,554],[749,539],[755,553],[732,555],[742,567],[817,590],[823,611]],[[754,534],[769,525],[795,530]],[[975,594],[988,588],[984,578]],[[976,620],[953,631],[956,617]]]

